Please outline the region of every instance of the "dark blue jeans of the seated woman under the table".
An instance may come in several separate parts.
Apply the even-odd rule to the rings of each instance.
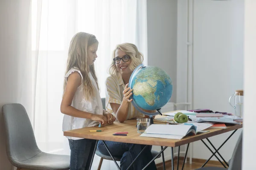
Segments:
[[[112,142],[105,141],[110,150],[112,156],[120,157],[120,168],[121,170],[126,170],[132,161],[139,155],[140,151],[143,150],[145,145],[143,144],[130,144],[122,142]],[[140,154],[137,160],[134,162],[133,166],[129,170],[142,170],[149,161],[153,159],[151,153],[152,146],[147,146],[145,150]],[[102,141],[99,141],[97,144],[97,149],[104,155],[109,155],[108,150]],[[156,164],[152,161],[151,164],[146,168],[146,170],[156,170]]]

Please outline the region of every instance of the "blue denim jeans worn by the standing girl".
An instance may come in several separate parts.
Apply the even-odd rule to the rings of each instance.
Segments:
[[[96,140],[93,139],[69,139],[70,145],[70,170],[89,170],[93,158],[93,150]]]

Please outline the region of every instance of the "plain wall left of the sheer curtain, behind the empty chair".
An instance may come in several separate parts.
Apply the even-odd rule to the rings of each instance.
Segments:
[[[6,103],[19,102],[24,106],[29,103],[27,86],[29,68],[18,67],[26,62],[29,1],[20,4],[17,0],[0,1],[0,169],[11,170],[12,165],[6,156],[5,131],[3,126],[2,106]],[[26,81],[24,80],[26,79]],[[24,81],[23,81],[24,80]],[[27,84],[26,84],[27,83]],[[24,88],[28,87],[28,88]],[[28,109],[28,108],[27,108]],[[29,109],[28,109],[29,110]]]

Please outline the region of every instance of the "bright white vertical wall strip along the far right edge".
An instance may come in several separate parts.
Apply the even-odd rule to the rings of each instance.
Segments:
[[[245,0],[243,170],[255,170],[256,1]],[[253,147],[252,147],[253,146]]]

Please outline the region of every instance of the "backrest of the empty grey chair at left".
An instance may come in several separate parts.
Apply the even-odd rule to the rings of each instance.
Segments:
[[[38,148],[34,131],[23,105],[3,105],[3,121],[6,130],[6,153],[9,160],[30,159],[41,150]]]

